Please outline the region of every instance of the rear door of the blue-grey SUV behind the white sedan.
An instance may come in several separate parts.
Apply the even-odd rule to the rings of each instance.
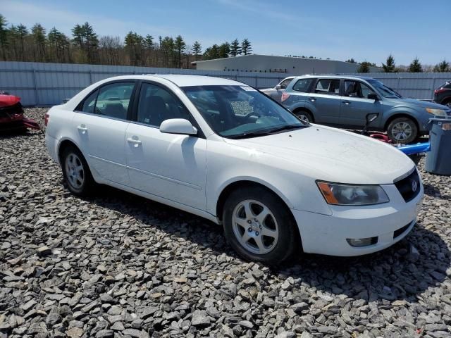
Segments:
[[[307,106],[311,106],[315,123],[340,123],[340,79],[320,78],[307,95]]]

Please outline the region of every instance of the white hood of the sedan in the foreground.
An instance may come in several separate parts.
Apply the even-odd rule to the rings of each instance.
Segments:
[[[299,173],[315,180],[354,184],[393,184],[409,173],[414,163],[390,144],[332,127],[311,127],[251,139],[225,139],[289,161]],[[264,158],[264,157],[262,157]],[[286,162],[265,165],[287,169]]]

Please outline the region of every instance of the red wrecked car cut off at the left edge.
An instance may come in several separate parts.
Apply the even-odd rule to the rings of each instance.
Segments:
[[[41,129],[34,120],[23,115],[20,97],[0,92],[0,132],[25,132],[27,128]]]

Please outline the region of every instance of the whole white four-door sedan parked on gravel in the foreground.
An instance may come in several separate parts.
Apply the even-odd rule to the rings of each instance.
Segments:
[[[194,213],[268,264],[384,249],[412,230],[423,196],[395,147],[304,123],[232,80],[112,77],[51,108],[46,124],[73,194],[108,184]]]

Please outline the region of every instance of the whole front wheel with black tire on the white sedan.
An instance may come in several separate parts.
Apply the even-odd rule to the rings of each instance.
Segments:
[[[252,217],[248,217],[248,212]],[[301,251],[290,209],[263,187],[232,192],[224,205],[223,226],[230,246],[247,261],[278,265],[290,258],[295,249]]]

